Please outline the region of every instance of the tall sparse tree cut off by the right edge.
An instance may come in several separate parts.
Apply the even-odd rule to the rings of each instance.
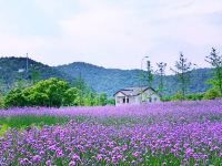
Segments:
[[[205,61],[213,66],[214,76],[209,81],[215,89],[219,90],[220,95],[222,96],[222,55],[216,53],[216,50],[212,48],[212,51]]]

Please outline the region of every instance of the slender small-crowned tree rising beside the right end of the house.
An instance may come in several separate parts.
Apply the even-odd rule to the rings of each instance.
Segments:
[[[157,65],[158,65],[157,74],[160,76],[160,83],[158,85],[158,90],[162,94],[164,90],[163,76],[165,75],[167,63],[160,62],[160,63],[157,63]]]

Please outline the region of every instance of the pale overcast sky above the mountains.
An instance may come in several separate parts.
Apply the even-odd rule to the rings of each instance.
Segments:
[[[140,69],[222,52],[222,0],[0,0],[0,56]]]

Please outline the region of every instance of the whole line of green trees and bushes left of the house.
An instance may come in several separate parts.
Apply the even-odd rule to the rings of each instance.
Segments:
[[[51,77],[32,85],[23,84],[0,97],[1,107],[14,106],[95,106],[114,104],[105,93],[92,92],[80,76],[73,84]]]

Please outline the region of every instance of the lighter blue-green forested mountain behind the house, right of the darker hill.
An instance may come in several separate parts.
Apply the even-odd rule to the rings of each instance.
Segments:
[[[83,62],[74,62],[67,65],[60,65],[56,69],[77,77],[79,74],[85,82],[98,92],[107,92],[112,95],[115,91],[129,86],[139,86],[145,84],[141,82],[140,70],[118,70],[104,69]],[[211,77],[211,69],[198,69],[191,73],[189,92],[204,92],[210,87],[206,80]],[[154,75],[153,87],[159,84],[159,76]],[[164,76],[165,91],[164,94],[173,94],[178,91],[178,80],[175,75]]]

